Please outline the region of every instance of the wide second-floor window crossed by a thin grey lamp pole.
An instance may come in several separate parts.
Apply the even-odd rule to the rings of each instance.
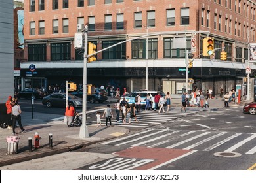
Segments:
[[[146,39],[132,41],[132,58],[146,59]],[[148,39],[148,58],[158,58],[158,39]]]

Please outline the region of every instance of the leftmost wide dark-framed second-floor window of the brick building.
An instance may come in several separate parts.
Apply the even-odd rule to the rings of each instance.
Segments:
[[[28,61],[46,61],[46,44],[28,44]]]

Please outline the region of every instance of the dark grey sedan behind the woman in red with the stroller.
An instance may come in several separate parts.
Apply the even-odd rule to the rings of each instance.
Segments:
[[[43,97],[42,103],[47,107],[66,107],[66,93],[53,93]],[[68,103],[72,103],[74,107],[83,106],[83,100],[70,93],[68,94]]]

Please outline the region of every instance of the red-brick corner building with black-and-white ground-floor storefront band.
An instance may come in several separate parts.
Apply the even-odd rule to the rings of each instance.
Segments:
[[[255,42],[255,0],[30,0],[24,2],[22,88],[83,80],[83,48],[74,48],[77,24],[88,26],[88,41],[102,50],[87,63],[87,83],[111,84],[128,92],[146,88],[181,93],[186,86],[186,52],[193,58],[188,91],[225,91],[244,84],[248,42]],[[148,37],[137,37],[148,35]],[[212,37],[213,56],[202,56]],[[131,41],[128,41],[133,39]],[[227,52],[226,61],[220,59]],[[254,71],[255,65],[251,65]],[[148,84],[146,84],[146,73]],[[251,75],[252,76],[252,75]],[[253,88],[250,88],[253,91]]]

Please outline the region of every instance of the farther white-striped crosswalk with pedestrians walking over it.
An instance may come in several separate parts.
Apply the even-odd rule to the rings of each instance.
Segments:
[[[113,115],[115,114],[115,112],[112,113]],[[137,128],[146,128],[146,127],[150,127],[152,125],[160,125],[163,124],[165,122],[170,122],[172,120],[175,120],[177,118],[181,118],[184,116],[188,116],[188,115],[192,115],[192,114],[196,114],[195,111],[193,112],[181,112],[181,111],[169,111],[169,112],[161,112],[160,114],[158,114],[158,111],[154,111],[154,110],[142,110],[142,112],[139,112],[139,114],[137,114],[137,120],[139,120],[139,122],[135,122],[135,118],[131,119],[131,124],[129,123],[129,117],[130,114],[127,114],[127,118],[126,118],[126,124],[123,124],[121,122],[121,114],[119,116],[120,121],[116,122],[116,114],[113,116],[112,118],[112,125],[121,125],[123,127],[137,127]],[[102,125],[105,124],[105,118],[101,119]],[[87,125],[97,125],[96,120],[92,120],[91,122],[87,122]]]

